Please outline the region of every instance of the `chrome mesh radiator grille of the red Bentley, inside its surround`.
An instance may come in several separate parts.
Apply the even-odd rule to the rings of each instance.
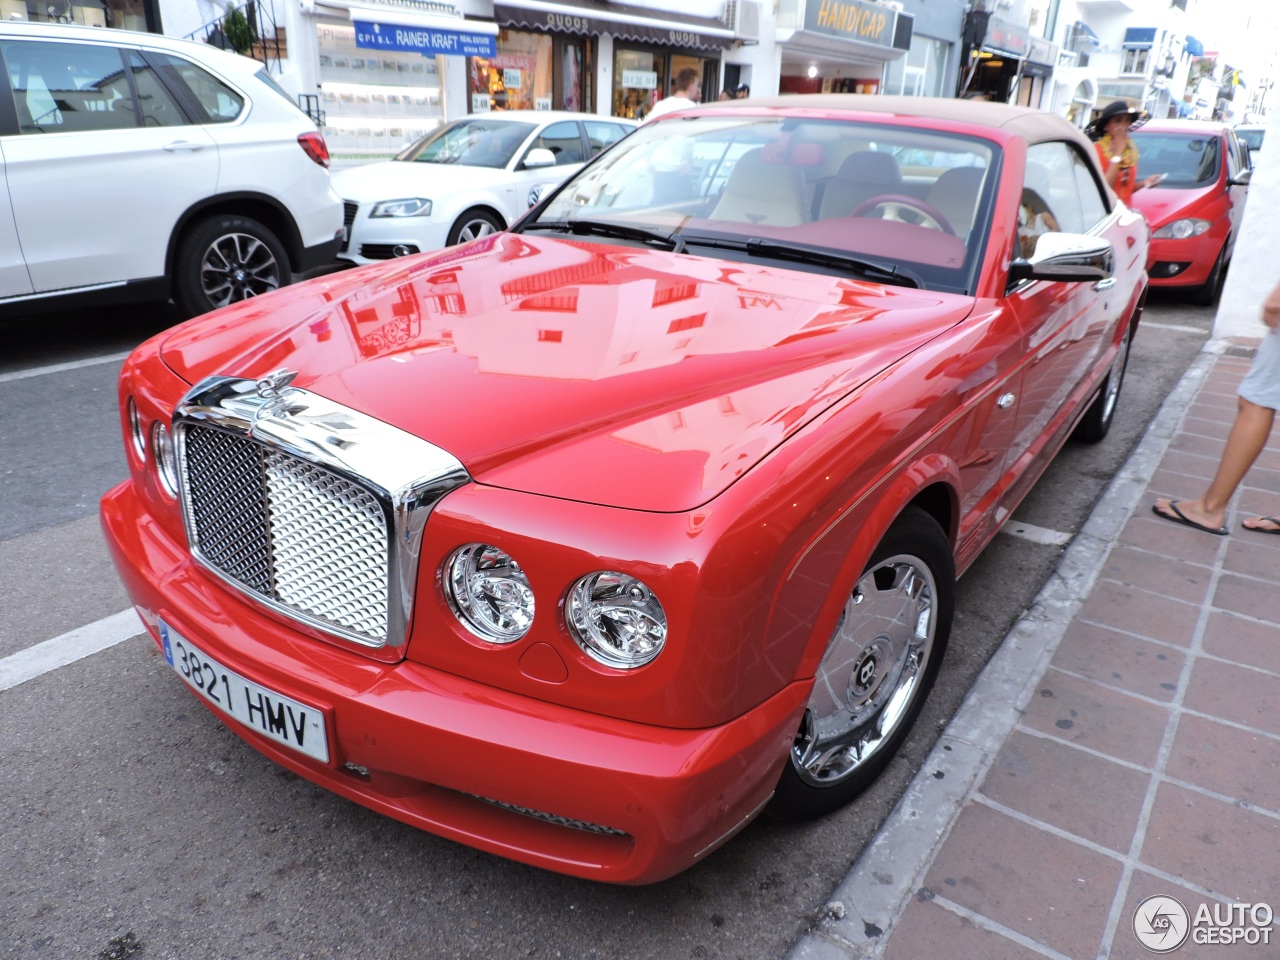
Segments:
[[[192,547],[273,605],[369,645],[388,641],[389,532],[379,499],[239,434],[186,425]]]

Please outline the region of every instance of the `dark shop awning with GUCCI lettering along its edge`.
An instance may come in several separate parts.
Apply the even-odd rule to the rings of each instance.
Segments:
[[[493,5],[503,27],[596,36],[612,33],[636,44],[658,44],[694,50],[722,50],[735,41],[733,31],[710,17],[658,12],[605,0],[512,0]]]

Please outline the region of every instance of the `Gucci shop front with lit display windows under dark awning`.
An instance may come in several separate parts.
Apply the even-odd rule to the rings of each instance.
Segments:
[[[733,44],[721,20],[611,3],[494,4],[493,60],[472,60],[472,110],[582,110],[643,119],[686,67],[714,100],[719,60]]]

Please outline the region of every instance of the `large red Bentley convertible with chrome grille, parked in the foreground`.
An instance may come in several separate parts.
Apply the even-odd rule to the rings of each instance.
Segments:
[[[872,782],[956,577],[1106,435],[1148,242],[1108,197],[1020,108],[672,114],[509,232],[141,346],[108,541],[268,756],[503,856],[669,877]]]

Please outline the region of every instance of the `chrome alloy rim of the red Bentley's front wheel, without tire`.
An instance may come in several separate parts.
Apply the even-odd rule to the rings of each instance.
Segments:
[[[791,746],[800,780],[833,786],[863,767],[920,692],[937,631],[937,585],[916,557],[888,557],[863,575],[818,666]]]

